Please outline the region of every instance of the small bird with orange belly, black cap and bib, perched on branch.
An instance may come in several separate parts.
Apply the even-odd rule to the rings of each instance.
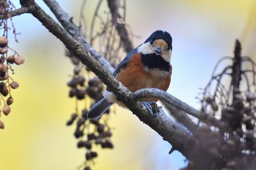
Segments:
[[[173,50],[172,37],[167,31],[155,31],[146,41],[128,53],[118,64],[113,76],[130,91],[142,88],[159,88],[167,90],[170,85],[172,66],[170,57]],[[116,96],[108,91],[91,110],[87,117],[98,118],[116,103]],[[157,98],[146,98],[144,101],[157,101]],[[121,102],[117,102],[121,104]]]

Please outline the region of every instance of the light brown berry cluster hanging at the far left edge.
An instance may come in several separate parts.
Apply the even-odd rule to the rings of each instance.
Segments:
[[[1,115],[9,115],[11,112],[10,105],[14,101],[11,90],[19,87],[18,82],[15,82],[11,77],[11,74],[14,74],[12,64],[20,65],[24,63],[24,58],[8,45],[8,31],[11,28],[15,41],[18,42],[12,18],[8,15],[8,12],[12,9],[15,9],[15,7],[11,1],[0,0],[0,13],[5,16],[0,20],[0,29],[3,30],[3,34],[0,36],[0,128],[4,128]],[[9,26],[9,20],[11,21],[11,27]],[[10,53],[12,55],[9,55]]]

